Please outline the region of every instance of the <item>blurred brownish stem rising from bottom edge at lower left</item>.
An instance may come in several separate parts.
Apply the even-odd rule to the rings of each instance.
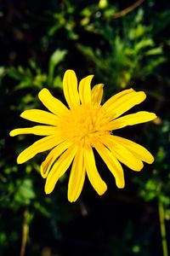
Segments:
[[[21,247],[20,247],[20,256],[24,256],[26,253],[26,242],[28,239],[28,233],[29,233],[29,219],[30,213],[26,209],[24,212],[24,220],[22,224],[22,241],[21,241]]]

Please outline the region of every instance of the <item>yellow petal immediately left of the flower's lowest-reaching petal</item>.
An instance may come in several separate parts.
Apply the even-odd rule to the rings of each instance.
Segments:
[[[50,194],[59,177],[63,176],[66,170],[71,166],[71,162],[77,153],[77,146],[74,145],[73,147],[68,148],[61,156],[59,160],[56,161],[54,166],[52,167],[51,171],[48,174],[46,183],[45,183],[45,193]]]

